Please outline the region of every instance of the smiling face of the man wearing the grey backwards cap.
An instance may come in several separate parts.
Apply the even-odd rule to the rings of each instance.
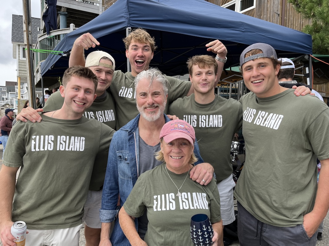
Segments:
[[[258,58],[242,65],[246,87],[258,97],[269,97],[280,93],[277,74],[280,64],[274,68],[270,58]]]

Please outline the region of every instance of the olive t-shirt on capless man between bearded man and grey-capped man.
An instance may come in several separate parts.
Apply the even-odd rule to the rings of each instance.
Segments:
[[[232,174],[230,151],[234,133],[242,125],[240,102],[215,94],[214,101],[200,104],[191,94],[170,104],[168,114],[193,126],[202,159],[213,165],[217,183]]]

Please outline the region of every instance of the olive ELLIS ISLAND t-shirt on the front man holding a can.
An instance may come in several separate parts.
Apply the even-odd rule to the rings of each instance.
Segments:
[[[107,162],[114,130],[86,117],[40,115],[40,123],[14,125],[3,156],[4,165],[21,167],[12,219],[28,229],[74,227],[82,223],[95,158]]]

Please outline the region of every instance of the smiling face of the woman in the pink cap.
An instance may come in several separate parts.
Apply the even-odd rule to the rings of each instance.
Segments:
[[[185,138],[177,138],[169,143],[163,140],[161,143],[161,152],[164,155],[166,167],[176,174],[182,174],[189,170],[189,161],[193,150],[194,145]]]

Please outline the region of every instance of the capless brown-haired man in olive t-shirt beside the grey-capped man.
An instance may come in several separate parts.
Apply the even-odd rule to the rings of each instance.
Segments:
[[[214,57],[196,55],[187,64],[194,94],[174,101],[168,113],[193,126],[202,158],[214,167],[220,195],[220,214],[223,225],[228,225],[235,220],[235,182],[230,148],[234,133],[242,125],[241,103],[214,93],[218,74]],[[218,72],[221,73],[221,70]]]

